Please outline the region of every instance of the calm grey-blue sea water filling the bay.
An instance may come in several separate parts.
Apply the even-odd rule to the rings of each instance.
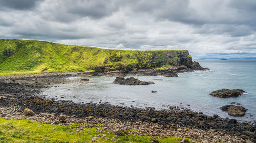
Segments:
[[[206,115],[217,114],[222,118],[254,121],[256,119],[256,61],[254,60],[197,60],[209,71],[180,73],[178,77],[133,76],[151,85],[114,84],[115,77],[71,77],[70,83],[54,84],[44,95],[74,102],[109,102],[120,106],[155,107],[168,109],[169,105],[202,111]],[[127,76],[129,77],[129,76]],[[76,80],[89,78],[91,83]],[[162,79],[162,80],[155,80]],[[209,94],[219,89],[242,89],[240,97],[218,98]],[[157,91],[152,93],[151,91]],[[64,98],[60,98],[63,96]],[[220,107],[230,102],[241,103],[247,108],[245,117],[231,117]]]

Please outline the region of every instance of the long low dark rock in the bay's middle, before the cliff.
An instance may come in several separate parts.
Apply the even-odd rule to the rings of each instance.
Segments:
[[[141,81],[137,78],[134,77],[128,77],[128,78],[124,78],[124,77],[116,77],[115,81],[113,82],[115,84],[123,84],[123,85],[148,85],[148,84],[155,84],[152,81]]]

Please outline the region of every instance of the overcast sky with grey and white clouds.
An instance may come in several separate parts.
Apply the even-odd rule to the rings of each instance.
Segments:
[[[255,0],[0,0],[0,38],[256,58]]]

